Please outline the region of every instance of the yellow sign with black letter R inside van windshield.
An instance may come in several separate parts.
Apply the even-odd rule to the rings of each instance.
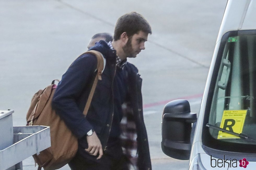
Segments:
[[[242,133],[245,123],[247,110],[224,110],[220,122],[220,128],[230,130],[235,133]],[[234,139],[239,138],[222,131],[219,131],[218,139]]]

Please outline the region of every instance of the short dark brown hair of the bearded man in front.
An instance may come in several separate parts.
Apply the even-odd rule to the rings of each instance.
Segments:
[[[130,37],[139,31],[152,34],[151,27],[147,20],[137,12],[131,12],[118,18],[117,24],[115,25],[114,40],[119,40],[121,34],[127,33]]]

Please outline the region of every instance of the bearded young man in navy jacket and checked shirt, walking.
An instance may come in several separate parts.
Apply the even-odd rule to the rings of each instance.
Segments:
[[[127,57],[136,57],[145,49],[151,33],[146,19],[131,12],[118,19],[113,42],[100,41],[89,49],[100,51],[107,62],[86,117],[82,112],[91,90],[96,57],[82,55],[62,76],[53,107],[79,139],[77,155],[69,163],[72,170],[126,170],[129,164],[139,170],[151,169],[142,79],[138,69],[127,62]]]

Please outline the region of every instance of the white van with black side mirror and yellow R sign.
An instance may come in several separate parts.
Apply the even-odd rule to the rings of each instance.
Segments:
[[[162,150],[191,170],[255,169],[256,0],[228,0],[199,114],[166,104]]]

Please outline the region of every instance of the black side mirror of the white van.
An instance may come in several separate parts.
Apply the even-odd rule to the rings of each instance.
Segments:
[[[190,113],[187,100],[179,99],[167,103],[162,116],[162,151],[175,159],[189,160],[190,135],[196,113]]]

